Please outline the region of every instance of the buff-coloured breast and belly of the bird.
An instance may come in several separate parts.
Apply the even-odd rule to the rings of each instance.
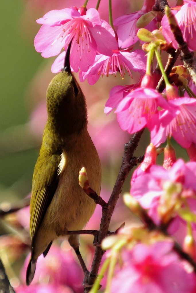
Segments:
[[[80,151],[73,154],[63,151],[61,154],[59,182],[47,211],[58,235],[83,229],[96,207],[95,202],[82,190],[78,180],[79,171],[84,166],[92,188],[97,193],[100,192],[100,178],[95,161],[89,159],[88,155]]]

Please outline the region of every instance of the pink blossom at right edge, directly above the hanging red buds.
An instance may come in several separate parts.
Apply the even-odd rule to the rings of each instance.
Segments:
[[[160,124],[151,131],[151,142],[158,147],[167,136],[173,137],[178,144],[189,148],[196,143],[196,100],[183,97],[169,100],[170,108],[176,109],[176,117],[168,110],[159,112]]]

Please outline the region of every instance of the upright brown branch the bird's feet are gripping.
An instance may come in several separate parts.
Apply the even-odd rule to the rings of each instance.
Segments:
[[[110,224],[110,220],[115,208],[115,205],[118,201],[119,195],[121,193],[123,183],[125,179],[127,178],[129,172],[135,165],[136,161],[140,161],[138,158],[133,158],[133,153],[138,146],[138,143],[140,141],[141,135],[143,134],[143,130],[140,130],[139,132],[136,132],[133,136],[133,138],[130,140],[129,143],[125,144],[125,152],[123,156],[123,162],[120,166],[120,171],[118,173],[118,177],[116,179],[112,194],[110,196],[110,199],[108,201],[108,208],[102,209],[102,218],[101,218],[101,224],[100,224],[100,231],[98,234],[98,243],[101,243],[101,241],[105,238],[105,236],[108,233],[108,228]],[[133,158],[133,161],[131,159]],[[131,162],[131,163],[130,163]],[[98,269],[101,263],[101,259],[105,251],[100,247],[97,246],[91,266],[91,270],[89,272],[89,275],[86,279],[86,282],[89,286],[93,285],[95,278],[98,274]],[[89,292],[90,288],[85,287],[84,292]]]

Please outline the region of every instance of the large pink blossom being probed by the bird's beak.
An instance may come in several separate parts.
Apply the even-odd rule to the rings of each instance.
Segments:
[[[100,19],[95,8],[87,10],[86,15],[76,8],[52,10],[46,13],[37,23],[43,24],[37,33],[34,45],[37,52],[45,58],[58,55],[62,48],[71,46],[71,67],[87,71],[93,64],[96,52],[112,55],[118,49],[113,29]]]

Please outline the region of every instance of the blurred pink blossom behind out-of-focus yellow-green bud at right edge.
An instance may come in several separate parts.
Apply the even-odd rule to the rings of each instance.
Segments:
[[[181,205],[182,208],[186,201],[190,211],[195,213],[196,162],[184,163],[179,159],[167,170],[162,166],[152,165],[145,172],[136,173],[136,176],[133,174],[133,178],[130,193],[143,208],[148,209],[148,214],[156,224],[160,224],[162,220],[160,206],[164,206],[166,211],[171,210],[172,201],[173,205],[178,202],[178,207]],[[170,195],[167,195],[167,186],[173,186],[173,193]],[[174,209],[171,217],[176,215]]]

